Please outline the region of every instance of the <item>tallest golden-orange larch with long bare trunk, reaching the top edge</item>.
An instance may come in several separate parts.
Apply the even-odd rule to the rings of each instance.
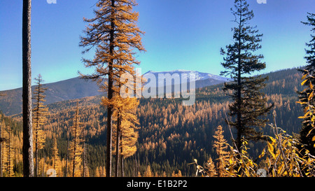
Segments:
[[[133,71],[133,64],[139,64],[135,59],[134,50],[144,50],[141,43],[142,31],[137,27],[139,14],[132,8],[137,3],[134,0],[100,0],[95,17],[84,19],[89,22],[85,36],[81,37],[80,46],[83,53],[95,50],[93,59],[83,59],[86,67],[94,67],[95,73],[83,75],[82,78],[97,80],[101,90],[107,92],[109,104],[106,123],[106,176],[111,176],[112,148],[112,115],[113,94],[115,92],[114,78],[119,78],[120,71]],[[105,81],[105,76],[108,78]]]

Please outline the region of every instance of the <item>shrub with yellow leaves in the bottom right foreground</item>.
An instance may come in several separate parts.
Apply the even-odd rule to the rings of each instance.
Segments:
[[[275,121],[274,113],[274,121]],[[267,136],[267,146],[262,150],[261,155],[266,156],[267,174],[270,177],[303,177],[314,176],[315,157],[293,136],[286,134],[286,131],[270,125],[274,137]]]

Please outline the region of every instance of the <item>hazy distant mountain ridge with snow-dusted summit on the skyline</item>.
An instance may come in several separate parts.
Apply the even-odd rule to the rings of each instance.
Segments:
[[[179,76],[186,75],[188,82],[190,77],[195,75],[195,87],[207,87],[209,85],[216,85],[223,83],[228,80],[221,76],[216,76],[211,73],[203,73],[199,71],[188,71],[188,70],[174,70],[174,71],[148,71],[144,76],[152,73],[158,80],[159,73],[178,73]],[[43,76],[45,79],[45,76]],[[158,84],[158,83],[157,83]],[[92,97],[102,94],[99,92],[99,87],[96,82],[92,80],[83,80],[80,78],[70,78],[68,80],[61,80],[55,83],[45,84],[47,90],[45,92],[45,104],[52,104],[58,101],[67,101],[71,99],[80,99],[83,97]],[[34,88],[34,86],[32,86]],[[1,94],[6,94],[5,97],[0,97],[0,110],[5,115],[15,115],[22,113],[22,87],[14,90],[1,91]]]

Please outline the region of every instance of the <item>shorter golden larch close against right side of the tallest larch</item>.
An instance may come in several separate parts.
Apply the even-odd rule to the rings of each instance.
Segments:
[[[121,77],[124,72],[126,72],[126,70],[124,71],[123,69],[119,69],[119,71],[120,73],[116,76]],[[113,117],[114,120],[117,119],[116,129],[113,129],[114,131],[116,130],[116,136],[114,136],[114,139],[116,139],[116,150],[114,151],[116,153],[116,176],[118,176],[119,172],[119,163],[121,171],[120,176],[124,176],[124,159],[134,155],[137,150],[135,143],[137,142],[138,134],[134,129],[136,128],[135,125],[139,125],[139,121],[137,115],[134,113],[137,106],[139,106],[139,100],[132,94],[137,94],[137,90],[141,90],[142,86],[140,86],[140,84],[142,82],[142,77],[137,75],[132,68],[127,71],[128,75],[132,77],[132,80],[137,84],[127,85],[127,82],[130,79],[126,80],[125,76],[123,78],[115,78],[117,81],[116,83],[118,83],[118,89],[114,92],[113,101],[111,101],[113,103],[113,108],[115,109]],[[122,86],[128,88],[122,88]],[[125,95],[122,95],[125,93],[130,94],[130,96],[125,97]],[[102,104],[108,105],[110,103],[108,99],[103,99]],[[117,150],[120,150],[120,152],[117,152]]]

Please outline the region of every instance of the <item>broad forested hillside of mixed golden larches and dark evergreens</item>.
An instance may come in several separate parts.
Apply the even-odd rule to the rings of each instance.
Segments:
[[[289,134],[298,133],[301,128],[299,116],[303,115],[300,104],[296,104],[297,90],[301,90],[301,73],[297,69],[286,69],[267,73],[269,80],[264,92],[267,100],[274,103],[276,123]],[[216,127],[223,127],[225,139],[230,142],[230,130],[225,123],[228,116],[230,99],[222,90],[223,84],[203,87],[196,92],[193,106],[182,106],[181,99],[140,99],[137,115],[139,118],[139,139],[136,155],[125,160],[125,176],[146,176],[148,166],[156,176],[193,176],[195,166],[188,165],[194,159],[204,164],[209,157],[216,158],[212,147]],[[87,169],[89,176],[104,176],[106,130],[106,109],[99,106],[100,96],[85,97],[70,101],[48,104],[49,115],[43,127],[45,132],[44,148],[40,150],[39,171],[43,174],[43,164],[47,170],[52,165],[53,139],[57,138],[57,150],[60,157],[59,176],[64,176],[66,166],[67,140],[78,103],[80,122],[86,130],[85,144]],[[22,120],[21,115],[13,116],[14,120],[3,117],[4,129],[13,127],[15,142],[13,148],[14,172],[22,175],[21,150]],[[272,122],[272,115],[268,115]],[[272,128],[267,125],[265,134],[271,134]],[[248,151],[254,158],[261,153],[262,143],[249,143]],[[45,158],[44,158],[45,157]],[[45,162],[44,162],[45,160]],[[68,164],[69,165],[69,164]],[[47,176],[47,175],[45,175]]]

